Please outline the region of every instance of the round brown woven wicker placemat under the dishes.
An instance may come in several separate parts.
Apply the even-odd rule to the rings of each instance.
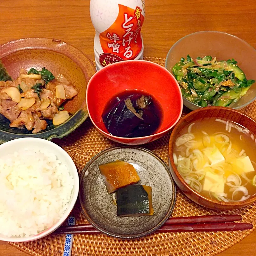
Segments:
[[[164,66],[165,59],[145,57],[145,60],[153,61]],[[183,109],[183,115],[188,113]],[[256,118],[256,102],[242,109],[242,112]],[[144,147],[152,150],[168,163],[168,141],[170,133]],[[92,125],[89,118],[73,133],[62,140],[54,140],[72,157],[80,173],[85,164],[101,150],[118,146],[101,135]],[[251,206],[233,211],[214,211],[203,208],[185,197],[177,189],[176,204],[173,217],[204,215],[204,214],[241,214],[243,221],[252,223],[254,228],[246,231],[235,232],[201,232],[201,233],[156,233],[136,240],[118,240],[104,234],[99,235],[74,235],[72,248],[73,256],[81,255],[175,255],[212,256],[238,243],[249,235],[256,227],[256,203]],[[76,217],[76,224],[88,223],[80,211],[79,202],[76,203],[72,216]],[[66,224],[66,223],[65,223]],[[64,248],[64,235],[49,235],[40,240],[26,243],[10,243],[12,246],[36,256],[61,256]]]

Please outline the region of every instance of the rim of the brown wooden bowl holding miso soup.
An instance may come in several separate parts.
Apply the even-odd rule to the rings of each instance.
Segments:
[[[243,115],[246,118],[251,119],[256,125],[256,121],[253,118],[250,118],[249,116],[247,116],[246,114],[244,114],[240,111],[237,111],[235,109],[232,109],[232,108],[219,107],[219,106],[210,106],[210,107],[199,108],[199,109],[196,109],[194,111],[191,111],[185,117],[186,118],[190,117],[191,115],[194,115],[195,113],[207,111],[208,109],[213,110],[213,108],[216,109],[216,110],[225,109],[225,111],[229,111],[229,112],[233,112],[233,113]],[[215,117],[215,118],[217,118],[217,117]],[[174,137],[174,134],[175,134],[176,131],[178,131],[180,125],[184,122],[184,120],[183,120],[183,118],[180,119],[178,124],[174,127],[174,129],[171,133],[171,136],[170,136],[170,139],[169,139],[169,145],[168,145],[168,158],[170,160],[171,167],[172,167],[175,175],[179,179],[179,181],[182,182],[182,185],[185,186],[186,189],[188,189],[190,192],[195,194],[199,198],[199,200],[202,199],[203,201],[207,201],[208,203],[214,203],[215,205],[219,205],[219,206],[239,206],[239,205],[241,205],[241,207],[244,207],[246,205],[249,205],[249,204],[252,204],[253,202],[255,202],[256,201],[256,195],[254,195],[253,197],[251,197],[249,199],[246,199],[244,201],[240,201],[240,202],[220,202],[220,201],[217,201],[217,200],[214,200],[214,199],[209,199],[205,196],[200,195],[197,191],[192,189],[187,182],[185,182],[185,180],[182,178],[182,176],[180,175],[180,173],[178,172],[178,170],[176,168],[176,165],[175,165],[174,160],[173,160],[173,150],[172,150],[172,144],[174,143],[174,139],[176,138],[176,137]],[[191,200],[194,201],[193,199],[191,199]]]

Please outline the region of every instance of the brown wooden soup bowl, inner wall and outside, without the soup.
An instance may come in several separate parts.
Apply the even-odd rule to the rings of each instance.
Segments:
[[[206,198],[197,193],[194,189],[192,189],[179,174],[173,161],[173,145],[176,141],[176,138],[179,136],[179,132],[184,126],[195,121],[202,120],[203,118],[220,118],[228,121],[233,121],[251,131],[254,136],[256,135],[256,121],[237,110],[225,107],[211,106],[200,108],[193,112],[190,112],[188,115],[182,118],[175,126],[171,133],[169,141],[169,166],[172,177],[176,182],[177,186],[192,201],[204,207],[215,210],[232,210],[256,202],[256,196],[253,196],[242,202],[220,202],[217,200],[215,201],[213,199]]]

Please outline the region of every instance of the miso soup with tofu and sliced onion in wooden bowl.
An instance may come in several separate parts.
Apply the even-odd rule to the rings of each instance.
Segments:
[[[255,141],[234,122],[205,118],[180,131],[174,163],[199,194],[223,202],[244,201],[256,194]]]

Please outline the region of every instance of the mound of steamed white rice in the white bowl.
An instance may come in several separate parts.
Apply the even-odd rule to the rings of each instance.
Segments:
[[[0,157],[0,234],[31,236],[60,220],[74,186],[65,164],[47,150]]]

